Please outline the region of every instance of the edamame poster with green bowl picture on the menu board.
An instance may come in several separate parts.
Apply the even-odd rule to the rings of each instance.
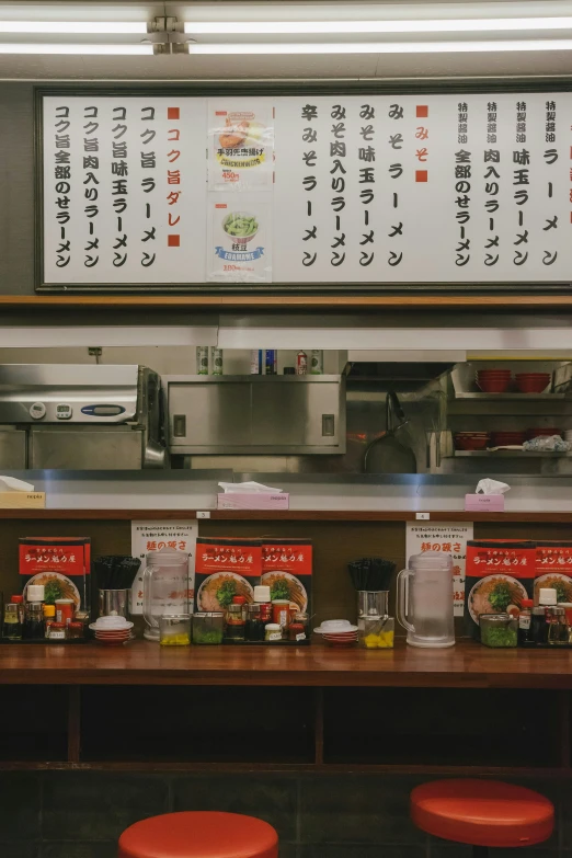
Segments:
[[[270,283],[268,201],[254,194],[210,196],[208,278],[218,283]]]

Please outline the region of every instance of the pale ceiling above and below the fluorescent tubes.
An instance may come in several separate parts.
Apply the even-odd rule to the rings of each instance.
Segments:
[[[408,0],[405,3],[353,2],[205,2],[178,3],[123,0],[59,0],[58,2],[7,2],[0,0],[0,19],[152,21],[174,15],[179,21],[226,16],[227,20],[253,20],[263,10],[266,16],[285,20],[287,15],[309,20],[343,20],[371,16],[374,5],[388,16],[438,18],[480,16],[487,13],[517,15],[523,3],[441,2]],[[544,0],[526,3],[527,14],[572,15],[572,0]],[[547,34],[550,37],[550,34]],[[474,54],[348,54],[348,55],[174,55],[134,57],[23,56],[0,55],[0,80],[139,80],[190,81],[228,79],[392,79],[433,77],[572,76],[572,50]]]

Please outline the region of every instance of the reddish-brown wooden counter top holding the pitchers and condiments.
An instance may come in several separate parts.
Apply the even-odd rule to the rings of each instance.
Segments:
[[[0,684],[572,689],[572,650],[2,644]]]

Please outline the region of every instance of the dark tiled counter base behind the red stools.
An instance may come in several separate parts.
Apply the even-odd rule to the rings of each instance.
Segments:
[[[470,858],[468,847],[411,824],[417,782],[378,774],[0,773],[0,858],[116,858],[133,822],[215,809],[270,822],[281,858]],[[518,858],[572,858],[572,782],[526,782],[554,801],[559,825],[548,844],[518,849]]]

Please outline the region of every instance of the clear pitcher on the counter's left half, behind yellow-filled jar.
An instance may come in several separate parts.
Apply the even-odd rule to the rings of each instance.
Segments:
[[[147,554],[142,574],[144,637],[159,641],[159,617],[163,614],[188,614],[188,554],[173,548],[161,548]]]

